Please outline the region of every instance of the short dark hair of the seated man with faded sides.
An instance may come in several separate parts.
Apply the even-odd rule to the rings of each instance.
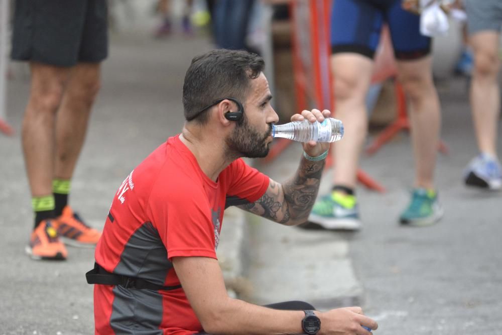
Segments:
[[[244,103],[250,82],[265,67],[262,57],[243,50],[217,49],[196,56],[183,83],[183,108],[187,121],[207,122],[200,113],[217,99],[229,96]]]

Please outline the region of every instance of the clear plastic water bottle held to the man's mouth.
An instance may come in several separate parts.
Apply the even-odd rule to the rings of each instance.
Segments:
[[[293,121],[284,125],[272,125],[272,137],[298,142],[335,142],[343,137],[343,124],[333,118],[314,123],[308,120]]]

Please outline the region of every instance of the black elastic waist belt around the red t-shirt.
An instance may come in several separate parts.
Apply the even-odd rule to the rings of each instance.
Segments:
[[[94,269],[85,274],[85,278],[88,284],[120,285],[125,288],[139,288],[155,291],[171,291],[181,288],[181,285],[162,286],[141,278],[117,275],[106,271],[97,263],[94,263]]]

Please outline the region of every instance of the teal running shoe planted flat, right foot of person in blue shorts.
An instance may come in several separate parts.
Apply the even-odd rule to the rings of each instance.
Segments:
[[[415,188],[408,208],[401,214],[400,222],[408,226],[431,226],[443,217],[437,192]]]

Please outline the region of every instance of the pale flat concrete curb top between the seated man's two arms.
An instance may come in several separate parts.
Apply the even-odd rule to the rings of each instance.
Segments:
[[[248,230],[251,301],[303,300],[320,310],[361,303],[348,243],[336,234],[283,227],[262,218],[250,220]]]

